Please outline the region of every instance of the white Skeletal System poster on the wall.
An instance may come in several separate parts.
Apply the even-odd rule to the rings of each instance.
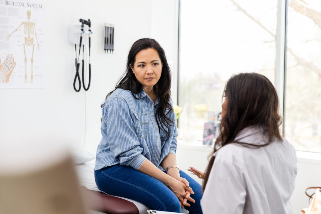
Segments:
[[[0,0],[0,89],[45,88],[45,5]]]

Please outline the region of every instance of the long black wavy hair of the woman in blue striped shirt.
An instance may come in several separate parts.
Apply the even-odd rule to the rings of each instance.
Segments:
[[[168,131],[169,126],[175,125],[175,121],[172,121],[167,116],[167,114],[173,111],[173,108],[169,103],[171,72],[169,69],[169,65],[167,63],[165,51],[155,39],[144,38],[144,39],[138,39],[137,41],[134,42],[134,44],[132,45],[128,53],[126,71],[117,82],[114,90],[116,90],[117,88],[129,90],[132,92],[132,95],[134,96],[134,98],[136,99],[141,98],[140,92],[143,89],[143,86],[136,79],[135,74],[133,73],[130,66],[134,65],[134,62],[136,60],[136,54],[139,51],[146,50],[148,48],[152,48],[157,51],[160,57],[160,61],[163,65],[160,79],[155,85],[157,96],[159,98],[159,105],[158,105],[158,108],[156,109],[156,116],[158,116],[160,120],[158,121],[158,119],[156,119],[156,122],[158,124],[158,127],[162,129],[164,132],[166,132],[167,135],[169,136],[170,134]],[[114,92],[114,90],[107,94],[106,99]],[[102,105],[100,107],[102,107]],[[166,114],[166,111],[168,111],[167,114]]]

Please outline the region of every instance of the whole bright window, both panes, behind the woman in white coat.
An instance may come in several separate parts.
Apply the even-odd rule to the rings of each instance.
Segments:
[[[321,3],[289,1],[287,37],[282,37],[286,70],[278,71],[276,52],[284,47],[276,46],[277,10],[284,2],[180,1],[178,127],[184,143],[202,145],[204,124],[218,123],[231,75],[256,72],[278,82],[284,137],[297,150],[321,152]],[[279,19],[285,16],[282,12]]]

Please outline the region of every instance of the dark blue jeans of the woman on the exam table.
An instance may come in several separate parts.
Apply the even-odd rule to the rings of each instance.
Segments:
[[[185,206],[185,209],[189,213],[202,213],[200,205],[202,186],[185,172],[179,171],[179,174],[187,179],[194,191],[191,197],[195,203],[187,201],[191,206]],[[101,191],[141,202],[149,209],[168,212],[181,211],[178,198],[165,184],[132,167],[117,164],[96,170],[95,181]]]

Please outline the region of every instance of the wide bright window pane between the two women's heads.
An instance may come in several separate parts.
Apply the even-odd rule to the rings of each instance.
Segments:
[[[232,74],[256,72],[274,82],[276,12],[276,0],[180,1],[178,127],[184,143],[202,144],[204,124],[217,123]]]

